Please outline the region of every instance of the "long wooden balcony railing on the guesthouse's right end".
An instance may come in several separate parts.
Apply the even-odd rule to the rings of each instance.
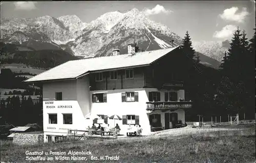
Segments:
[[[157,101],[157,102],[146,102],[146,110],[161,110],[168,108],[191,108],[192,101]]]

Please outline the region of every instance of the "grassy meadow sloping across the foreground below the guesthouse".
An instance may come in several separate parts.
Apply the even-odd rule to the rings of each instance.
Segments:
[[[184,128],[159,132],[147,137],[116,140],[88,138],[81,142],[44,144],[43,146],[18,147],[3,141],[1,142],[1,161],[29,162],[26,161],[26,151],[42,150],[67,153],[69,150],[90,150],[93,156],[117,155],[120,158],[117,161],[91,160],[92,155],[87,155],[86,162],[255,162],[255,124]],[[53,155],[46,157],[51,156],[54,157]]]

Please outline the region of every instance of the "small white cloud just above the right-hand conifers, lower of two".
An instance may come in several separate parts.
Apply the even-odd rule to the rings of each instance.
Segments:
[[[237,26],[235,25],[226,25],[222,28],[221,31],[215,31],[214,37],[219,39],[228,39],[232,36],[234,31],[237,30]]]

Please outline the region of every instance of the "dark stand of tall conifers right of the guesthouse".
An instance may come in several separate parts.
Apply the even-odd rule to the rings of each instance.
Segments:
[[[248,41],[245,31],[234,32],[219,70],[200,64],[191,38],[186,32],[182,52],[188,75],[184,79],[185,98],[193,101],[186,120],[198,121],[198,115],[217,116],[255,113],[255,29]]]

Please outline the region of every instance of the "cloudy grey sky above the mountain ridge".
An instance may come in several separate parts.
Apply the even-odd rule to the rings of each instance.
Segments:
[[[132,8],[167,25],[182,38],[188,31],[194,41],[230,39],[237,26],[250,38],[255,26],[255,1],[3,2],[1,17],[77,15],[88,23],[106,12]]]

